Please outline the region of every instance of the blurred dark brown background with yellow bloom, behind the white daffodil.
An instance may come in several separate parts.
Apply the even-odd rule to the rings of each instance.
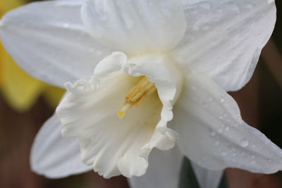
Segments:
[[[0,0],[0,17],[25,3]],[[276,5],[274,35],[262,51],[255,74],[243,89],[231,95],[238,102],[243,119],[282,148],[282,1],[276,1]],[[63,92],[27,75],[0,46],[0,187],[128,187],[124,177],[105,180],[94,172],[59,180],[31,172],[29,155],[33,139],[54,112]],[[261,175],[227,169],[226,179],[231,188],[282,187],[282,173]]]

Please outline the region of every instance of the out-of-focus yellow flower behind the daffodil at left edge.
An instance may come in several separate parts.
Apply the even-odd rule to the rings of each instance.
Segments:
[[[0,18],[6,11],[21,6],[25,1],[0,0]],[[40,94],[51,107],[56,107],[64,92],[63,89],[49,86],[27,75],[0,44],[0,89],[8,104],[17,111],[25,111],[37,100]]]

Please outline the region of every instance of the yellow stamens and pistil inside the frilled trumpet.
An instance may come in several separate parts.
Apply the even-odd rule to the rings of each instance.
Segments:
[[[154,83],[149,82],[147,77],[142,76],[140,82],[138,82],[127,96],[125,96],[124,106],[118,111],[118,118],[122,119],[125,115],[125,112],[128,111],[132,106],[138,106],[141,101],[143,101],[146,96],[157,91]]]

